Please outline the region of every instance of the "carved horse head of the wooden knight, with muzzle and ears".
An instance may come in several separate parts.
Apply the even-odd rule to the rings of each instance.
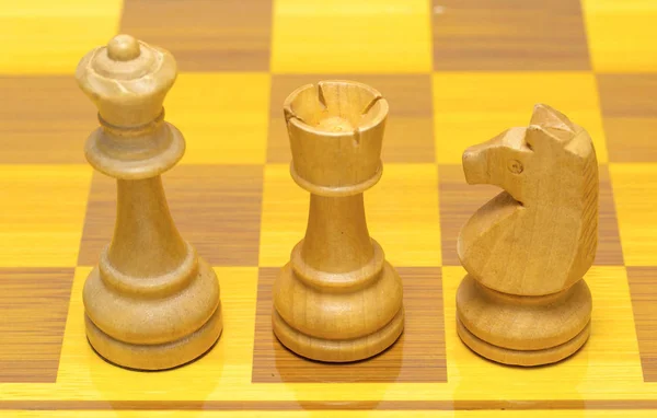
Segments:
[[[591,162],[597,164],[591,139],[554,108],[534,106],[528,127],[510,128],[463,153],[463,171],[469,184],[493,184],[527,204],[555,190],[572,187],[577,176],[563,175]],[[550,177],[550,181],[546,178]]]

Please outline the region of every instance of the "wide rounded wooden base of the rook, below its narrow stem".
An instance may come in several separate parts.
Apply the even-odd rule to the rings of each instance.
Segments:
[[[356,271],[326,274],[292,262],[274,282],[274,334],[299,356],[326,362],[364,360],[404,328],[402,280],[374,241],[374,257]],[[306,276],[296,272],[298,263]]]

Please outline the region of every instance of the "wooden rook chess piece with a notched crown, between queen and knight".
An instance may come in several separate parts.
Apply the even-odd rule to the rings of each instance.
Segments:
[[[362,200],[382,174],[388,102],[368,85],[324,81],[292,92],[284,113],[290,172],[311,197],[306,236],[274,285],[274,332],[314,360],[374,356],[404,327],[402,281],[370,239]]]

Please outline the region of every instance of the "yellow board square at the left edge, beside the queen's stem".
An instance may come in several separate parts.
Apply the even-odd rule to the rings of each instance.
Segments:
[[[74,267],[88,165],[0,165],[0,267]]]

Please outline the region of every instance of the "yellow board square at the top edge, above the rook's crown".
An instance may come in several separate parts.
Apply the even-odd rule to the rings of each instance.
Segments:
[[[431,71],[428,0],[274,2],[272,71]]]

